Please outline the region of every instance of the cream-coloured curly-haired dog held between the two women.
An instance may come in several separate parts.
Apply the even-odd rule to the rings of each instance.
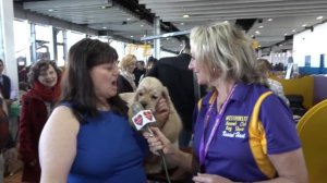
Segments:
[[[175,146],[182,130],[182,122],[177,113],[173,103],[169,97],[168,89],[155,77],[145,77],[141,81],[136,93],[120,94],[120,96],[128,101],[129,106],[138,101],[145,109],[149,109],[156,115],[156,106],[161,97],[166,98],[169,105],[169,117],[167,120],[157,120],[153,126],[157,126],[165,134],[165,136]],[[132,117],[132,111],[129,111]],[[160,157],[150,155],[145,162],[146,173],[158,173],[162,170]]]

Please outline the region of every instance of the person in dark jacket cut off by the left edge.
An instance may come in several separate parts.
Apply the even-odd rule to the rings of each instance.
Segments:
[[[3,74],[4,63],[0,59],[0,89],[4,98],[4,101],[10,106],[13,101],[17,99],[17,90],[15,85],[10,81],[10,78]]]

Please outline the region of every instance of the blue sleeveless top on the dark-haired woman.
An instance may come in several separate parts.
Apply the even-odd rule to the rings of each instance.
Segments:
[[[69,103],[62,103],[70,107]],[[112,111],[86,117],[77,135],[69,183],[144,183],[146,141],[128,120]],[[60,134],[59,134],[60,135]]]

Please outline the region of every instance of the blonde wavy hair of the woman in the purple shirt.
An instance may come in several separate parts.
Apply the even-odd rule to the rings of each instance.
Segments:
[[[262,83],[256,54],[244,30],[230,23],[197,26],[191,32],[193,58],[209,70],[209,77]]]

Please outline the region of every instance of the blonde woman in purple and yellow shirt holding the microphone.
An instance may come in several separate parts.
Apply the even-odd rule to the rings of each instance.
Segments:
[[[198,84],[213,87],[194,112],[194,159],[156,127],[156,136],[144,133],[150,150],[164,150],[169,162],[190,172],[194,168],[196,183],[307,183],[292,113],[261,82],[244,30],[230,23],[195,27],[191,53]]]

